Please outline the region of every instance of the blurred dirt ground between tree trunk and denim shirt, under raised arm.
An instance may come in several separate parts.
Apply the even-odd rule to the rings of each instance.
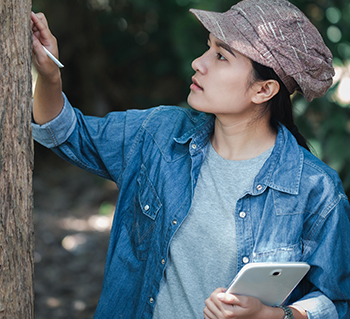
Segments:
[[[117,188],[36,145],[33,189],[35,318],[92,318]]]

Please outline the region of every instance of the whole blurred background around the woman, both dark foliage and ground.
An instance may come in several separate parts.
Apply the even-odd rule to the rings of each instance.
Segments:
[[[63,90],[85,114],[186,106],[191,61],[208,34],[189,8],[226,11],[235,0],[33,0],[56,36]],[[350,194],[350,4],[293,0],[334,55],[334,85],[308,103],[295,95],[299,130]],[[33,71],[35,85],[35,71]],[[35,144],[36,318],[92,318],[101,291],[118,190]]]

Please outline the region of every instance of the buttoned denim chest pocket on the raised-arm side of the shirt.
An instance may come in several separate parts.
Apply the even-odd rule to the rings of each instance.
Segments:
[[[137,184],[138,189],[132,206],[133,213],[129,215],[129,219],[126,219],[126,228],[135,256],[139,260],[147,260],[156,217],[162,204],[144,165],[141,165]]]

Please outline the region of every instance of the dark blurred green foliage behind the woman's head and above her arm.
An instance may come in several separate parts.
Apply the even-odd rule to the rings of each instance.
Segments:
[[[185,104],[191,61],[206,50],[207,32],[190,8],[226,11],[228,0],[34,0],[60,44],[64,91],[85,113]],[[307,103],[294,97],[299,130],[335,168],[350,193],[350,3],[292,0],[334,54],[334,87]],[[347,68],[348,67],[348,68]],[[350,80],[348,82],[350,86]],[[340,91],[344,96],[340,95]],[[349,92],[349,93],[347,93]]]

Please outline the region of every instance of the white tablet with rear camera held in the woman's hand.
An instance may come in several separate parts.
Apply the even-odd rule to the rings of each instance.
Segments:
[[[279,306],[309,269],[303,262],[250,263],[238,272],[227,292],[256,297],[267,306]]]

